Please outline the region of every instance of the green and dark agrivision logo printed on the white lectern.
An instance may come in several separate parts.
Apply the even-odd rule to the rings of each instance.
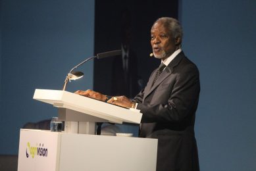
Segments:
[[[36,146],[31,146],[30,142],[27,143],[26,147],[26,157],[32,157],[34,159],[35,156],[38,157],[47,157],[48,155],[48,149],[43,147],[43,143],[36,143]]]

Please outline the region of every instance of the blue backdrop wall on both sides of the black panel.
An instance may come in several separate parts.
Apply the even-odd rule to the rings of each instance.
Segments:
[[[19,128],[56,114],[32,99],[34,89],[61,89],[66,72],[93,55],[94,3],[0,2],[0,153],[17,154]],[[182,48],[201,74],[201,170],[256,170],[255,7],[253,0],[180,1]],[[68,91],[92,88],[93,62],[81,70],[88,78]]]

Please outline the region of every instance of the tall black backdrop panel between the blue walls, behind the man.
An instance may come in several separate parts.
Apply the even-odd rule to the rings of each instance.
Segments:
[[[149,57],[150,30],[162,16],[178,18],[178,0],[95,1],[94,52],[122,49],[120,57],[94,61],[93,89],[134,97],[160,61]]]

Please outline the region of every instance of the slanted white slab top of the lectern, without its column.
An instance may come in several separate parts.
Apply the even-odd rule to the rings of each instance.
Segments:
[[[62,90],[36,89],[33,99],[49,103],[54,107],[71,109],[97,118],[104,118],[114,123],[140,124],[142,117],[140,110],[120,107]]]

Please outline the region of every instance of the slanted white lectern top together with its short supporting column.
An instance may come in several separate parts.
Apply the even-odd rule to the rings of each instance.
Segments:
[[[59,109],[59,119],[65,121],[65,132],[95,134],[95,122],[129,122],[140,124],[140,110],[126,109],[68,91],[36,89],[34,99]]]

